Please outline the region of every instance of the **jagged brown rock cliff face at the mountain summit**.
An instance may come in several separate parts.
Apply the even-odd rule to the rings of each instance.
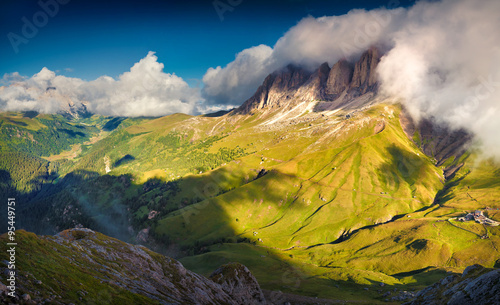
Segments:
[[[371,48],[355,63],[342,59],[331,69],[323,63],[312,73],[289,65],[270,74],[236,112],[245,114],[315,100],[335,101],[335,107],[340,107],[362,95],[376,93],[380,56],[378,49]]]

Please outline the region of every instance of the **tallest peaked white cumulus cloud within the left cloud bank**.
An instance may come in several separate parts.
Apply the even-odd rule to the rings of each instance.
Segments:
[[[159,116],[194,113],[199,90],[175,74],[163,72],[163,64],[150,52],[118,80],[101,77],[80,87],[91,101],[91,112],[122,116]]]

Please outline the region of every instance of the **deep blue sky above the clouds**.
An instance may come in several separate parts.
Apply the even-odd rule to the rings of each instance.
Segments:
[[[50,3],[57,0],[41,0]],[[62,0],[59,0],[63,2]],[[249,1],[219,14],[214,1],[64,0],[59,11],[14,51],[9,33],[22,37],[23,17],[31,21],[38,1],[3,0],[0,4],[0,74],[31,76],[43,67],[58,74],[93,80],[116,78],[155,51],[165,72],[191,86],[210,67],[225,66],[243,49],[276,41],[303,17],[341,15],[353,8],[394,6],[398,1]],[[238,4],[239,3],[239,4]],[[399,5],[410,5],[402,0]],[[44,22],[43,19],[40,19]],[[67,69],[67,70],[66,70]]]

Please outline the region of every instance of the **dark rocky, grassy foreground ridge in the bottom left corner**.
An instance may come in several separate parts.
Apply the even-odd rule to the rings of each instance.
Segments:
[[[20,304],[264,304],[259,284],[240,264],[223,268],[214,280],[178,261],[89,229],[56,236],[16,232],[29,254],[16,264],[17,298],[11,298],[0,265],[0,302]],[[6,244],[7,235],[0,237]],[[5,262],[2,248],[0,259]],[[244,298],[245,302],[242,302]],[[7,302],[7,303],[8,303]],[[3,303],[2,303],[3,304]]]

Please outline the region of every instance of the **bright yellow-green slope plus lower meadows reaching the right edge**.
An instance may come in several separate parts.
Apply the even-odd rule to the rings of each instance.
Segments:
[[[370,113],[380,115],[381,108]],[[486,213],[499,220],[500,213],[495,212],[500,208],[496,200],[498,166],[469,158],[445,188],[442,168],[434,166],[406,138],[394,110],[392,119],[384,116],[382,132],[373,133],[376,116],[363,127],[359,127],[360,120],[370,121],[355,118],[356,128],[344,125],[328,139],[340,145],[325,149],[324,142],[319,142],[322,135],[318,135],[316,152],[299,150],[295,157],[269,166],[268,175],[173,213],[160,221],[157,229],[178,236],[181,244],[243,237],[252,241],[251,247],[266,251],[260,255],[277,255],[280,261],[284,256],[292,258],[292,269],[287,272],[298,268],[306,278],[319,276],[358,284],[382,281],[416,289],[443,275],[440,270],[459,270],[473,263],[493,266],[500,258],[498,227],[457,224],[449,218],[490,207]],[[262,152],[261,160],[286,156],[289,151],[273,153],[272,148]],[[261,161],[261,166],[266,161]],[[466,177],[462,179],[462,175]],[[286,281],[267,276],[265,265],[247,261],[251,252],[237,245],[227,250],[211,247],[209,253],[183,262],[203,272],[201,266],[217,257],[220,261],[242,260],[254,268],[264,286],[277,288],[278,281],[280,289],[295,289]],[[254,256],[260,260],[259,254]],[[315,269],[321,270],[320,275],[311,271]],[[323,287],[316,296],[328,296],[327,287],[332,291],[328,281],[311,286],[308,280],[301,282],[310,293],[314,291],[311,286]]]

